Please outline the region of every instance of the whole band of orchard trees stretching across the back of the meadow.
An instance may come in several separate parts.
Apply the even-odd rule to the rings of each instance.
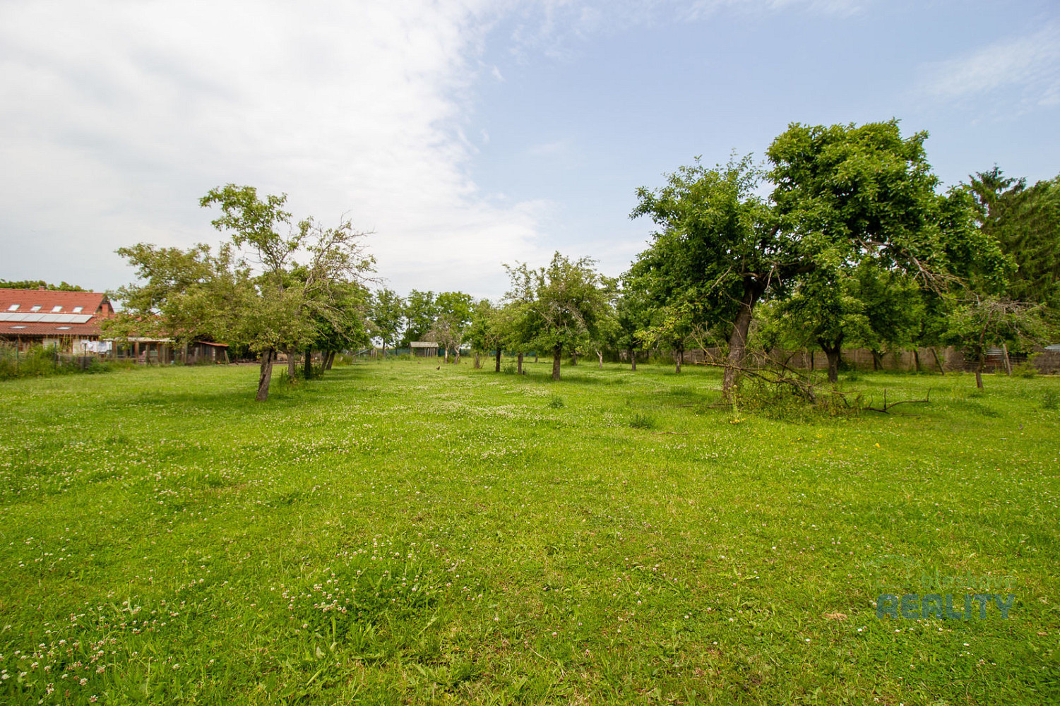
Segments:
[[[1060,177],[1027,186],[996,167],[940,188],[923,148],[897,121],[793,124],[765,151],[706,166],[699,159],[641,188],[632,217],[655,225],[650,247],[615,280],[556,252],[537,268],[506,265],[501,301],[460,292],[371,292],[373,260],[347,222],[298,223],[285,197],[228,186],[201,199],[230,240],[213,251],[137,245],[119,252],[140,284],[110,324],[137,335],[211,336],[261,358],[258,398],[277,352],[334,351],[370,337],[384,349],[437,341],[459,360],[470,345],[522,365],[528,352],[725,351],[731,398],[748,346],[819,348],[837,378],[844,347],[954,345],[978,361],[990,347],[1055,335],[1060,312]],[[281,232],[282,231],[282,232]],[[476,356],[477,359],[478,356]],[[326,359],[326,356],[325,356]],[[288,364],[293,365],[293,364]]]

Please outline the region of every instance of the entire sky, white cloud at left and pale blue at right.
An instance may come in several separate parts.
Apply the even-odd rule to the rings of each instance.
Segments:
[[[944,183],[1060,173],[1055,0],[0,4],[0,279],[110,289],[286,193],[401,292],[496,297],[555,249],[620,273],[639,186],[789,123],[898,118]]]

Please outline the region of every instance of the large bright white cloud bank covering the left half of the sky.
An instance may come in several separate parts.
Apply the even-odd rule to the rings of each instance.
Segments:
[[[219,240],[197,199],[236,182],[325,224],[348,211],[393,287],[502,290],[501,261],[542,257],[542,207],[467,177],[494,17],[485,0],[4,3],[0,277],[116,286],[121,245]]]

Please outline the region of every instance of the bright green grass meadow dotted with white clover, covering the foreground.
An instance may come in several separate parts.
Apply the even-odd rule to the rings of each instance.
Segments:
[[[932,402],[792,422],[527,367],[0,385],[0,702],[1060,700],[1060,380],[862,373]]]

